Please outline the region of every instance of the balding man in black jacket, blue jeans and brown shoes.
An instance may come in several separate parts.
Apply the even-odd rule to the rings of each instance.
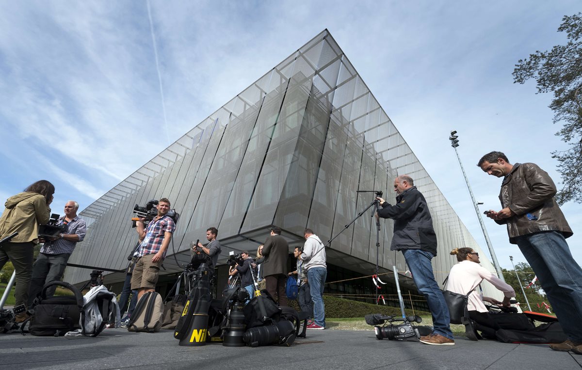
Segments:
[[[381,197],[376,197],[382,206],[377,217],[394,220],[390,250],[402,250],[414,284],[427,299],[434,331],[430,335],[421,336],[420,342],[453,346],[455,340],[450,331],[449,308],[432,273],[431,260],[437,256],[437,235],[432,228],[427,200],[416,189],[409,175],[400,175],[394,180],[394,191],[398,196],[393,206]]]

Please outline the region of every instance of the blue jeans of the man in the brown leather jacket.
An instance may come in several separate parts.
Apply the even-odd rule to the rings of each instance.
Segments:
[[[568,339],[582,342],[582,269],[562,233],[517,236],[517,246],[533,268]]]

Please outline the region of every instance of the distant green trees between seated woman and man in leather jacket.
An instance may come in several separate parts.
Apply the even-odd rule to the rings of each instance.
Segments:
[[[523,293],[521,293],[521,288],[519,281],[517,280],[517,275],[519,275],[521,284],[523,285],[523,290],[527,294],[527,300],[530,302],[531,310],[534,312],[542,312],[545,314],[548,313],[548,310],[545,309],[542,303],[545,302],[546,304],[548,304],[548,306],[550,306],[550,304],[548,301],[548,297],[540,294],[540,290],[542,289],[540,282],[536,281],[529,288],[526,288],[530,284],[530,282],[534,279],[535,276],[534,270],[530,267],[530,265],[521,262],[515,265],[515,270],[506,270],[505,268],[503,268],[502,272],[503,277],[505,278],[505,282],[511,285],[513,290],[515,290],[515,299],[520,303],[521,310],[527,311],[527,303],[523,297]],[[538,307],[538,305],[540,307]],[[552,310],[552,308],[550,308],[550,310]]]

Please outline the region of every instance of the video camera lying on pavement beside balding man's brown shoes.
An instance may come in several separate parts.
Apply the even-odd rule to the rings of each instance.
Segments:
[[[378,340],[384,338],[388,338],[388,340],[404,340],[411,337],[420,339],[420,332],[412,323],[417,322],[420,324],[422,321],[423,319],[416,315],[404,318],[382,314],[365,315],[365,322],[374,326],[374,332]]]

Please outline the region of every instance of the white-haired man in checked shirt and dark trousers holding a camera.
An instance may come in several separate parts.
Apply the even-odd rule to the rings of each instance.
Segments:
[[[65,225],[65,230],[59,234],[58,238],[40,239],[44,244],[33,267],[33,278],[29,288],[29,307],[45,283],[61,280],[74,247],[77,242],[82,242],[85,238],[87,230],[85,220],[77,216],[77,210],[79,210],[79,203],[69,200],[65,204],[65,215],[58,221],[58,225]],[[56,286],[47,289],[47,296],[55,294],[55,289]]]

